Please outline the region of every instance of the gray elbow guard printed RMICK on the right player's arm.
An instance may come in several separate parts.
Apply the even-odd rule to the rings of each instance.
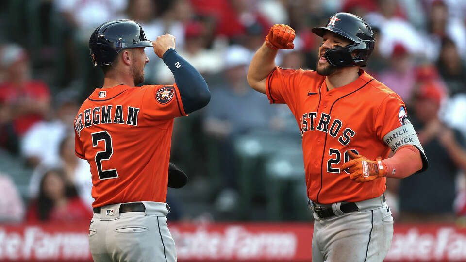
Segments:
[[[395,153],[398,148],[406,145],[413,145],[419,150],[422,160],[422,169],[416,173],[420,173],[427,169],[429,162],[427,161],[424,148],[422,148],[419,138],[417,137],[416,131],[411,123],[404,124],[399,128],[396,128],[383,137],[383,142]]]

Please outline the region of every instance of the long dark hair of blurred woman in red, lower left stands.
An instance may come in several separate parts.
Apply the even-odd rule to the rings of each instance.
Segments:
[[[51,173],[58,174],[58,177],[63,181],[63,185],[65,187],[65,196],[67,198],[77,195],[76,188],[73,185],[69,185],[65,179],[65,170],[56,168],[46,171],[42,177],[42,180],[40,181],[39,196],[37,197],[37,213],[39,215],[39,220],[41,221],[49,219],[50,211],[54,207],[53,200],[47,196],[44,190],[44,181]]]

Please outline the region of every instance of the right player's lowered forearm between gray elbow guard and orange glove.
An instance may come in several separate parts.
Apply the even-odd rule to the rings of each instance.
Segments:
[[[382,162],[389,178],[405,178],[422,168],[421,155],[414,146],[401,147],[392,157]]]

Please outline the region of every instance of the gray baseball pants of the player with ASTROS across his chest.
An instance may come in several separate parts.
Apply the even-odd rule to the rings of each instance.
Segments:
[[[309,203],[311,209],[318,204]],[[383,197],[356,202],[359,211],[319,218],[314,213],[313,262],[382,262],[393,237],[393,217]]]

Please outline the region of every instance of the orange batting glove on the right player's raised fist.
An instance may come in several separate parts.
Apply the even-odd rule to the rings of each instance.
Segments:
[[[266,45],[271,49],[294,49],[295,30],[287,25],[274,25],[266,37]]]

